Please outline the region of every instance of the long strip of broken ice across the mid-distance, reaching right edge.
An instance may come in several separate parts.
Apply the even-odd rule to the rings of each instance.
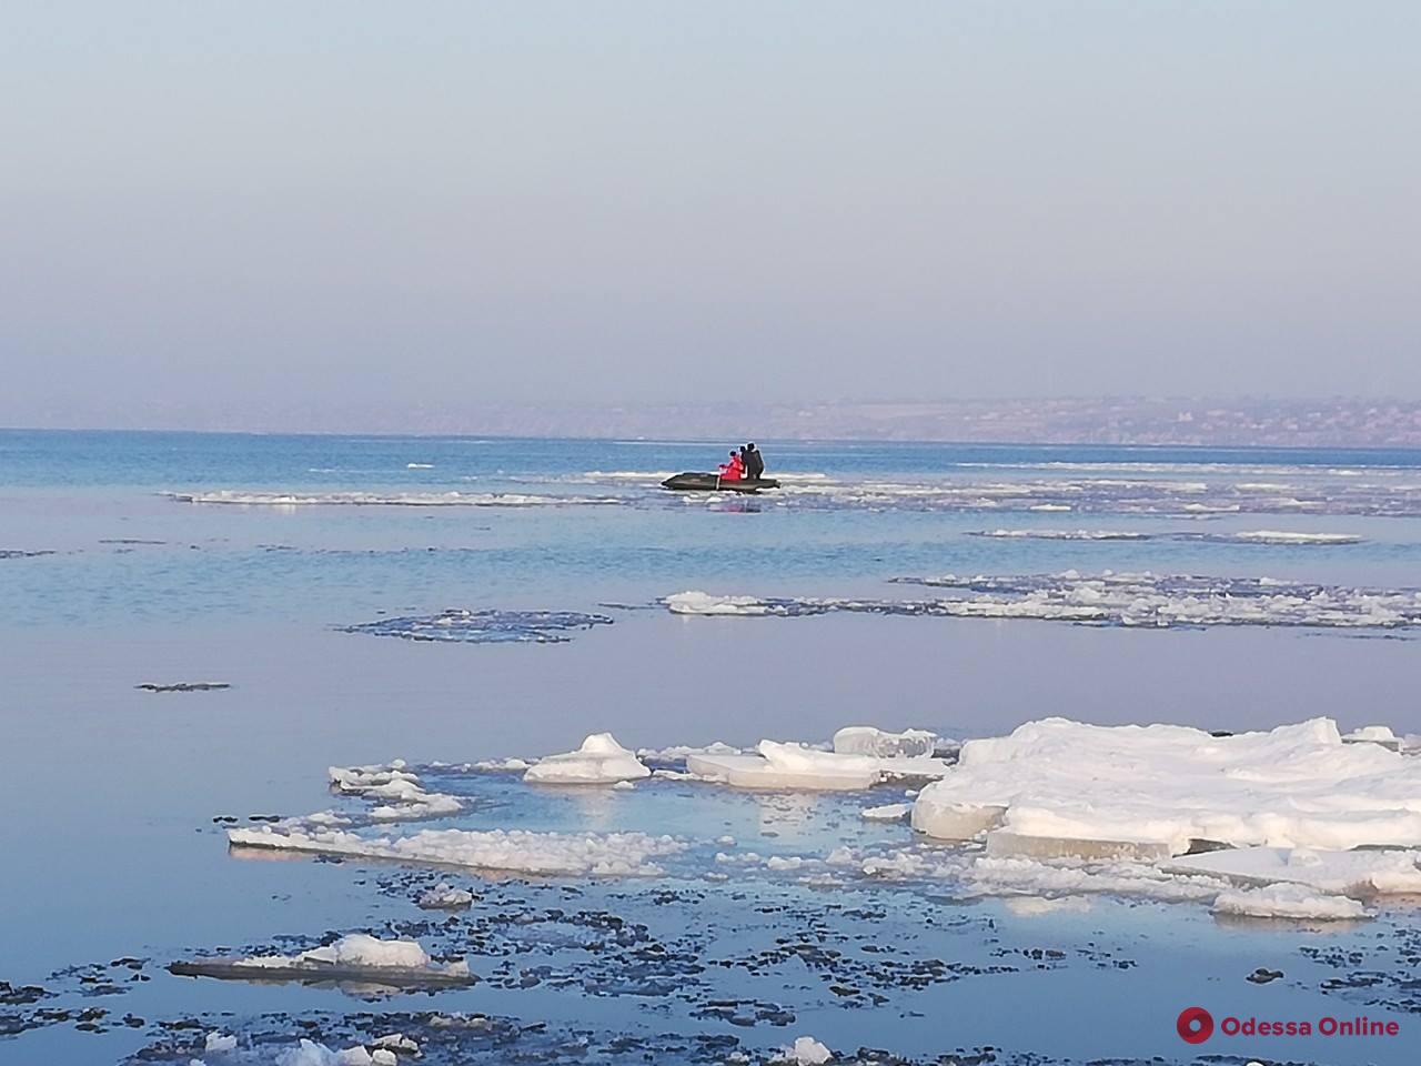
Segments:
[[[1268,577],[1060,574],[899,577],[948,590],[935,600],[759,598],[685,591],[672,614],[804,617],[847,611],[935,618],[1032,618],[1141,628],[1296,625],[1407,628],[1421,625],[1421,590],[1354,588]]]

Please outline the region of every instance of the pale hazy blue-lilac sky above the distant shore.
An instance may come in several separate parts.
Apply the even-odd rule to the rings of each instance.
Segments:
[[[7,0],[0,425],[1421,398],[1418,41],[1414,0]]]

